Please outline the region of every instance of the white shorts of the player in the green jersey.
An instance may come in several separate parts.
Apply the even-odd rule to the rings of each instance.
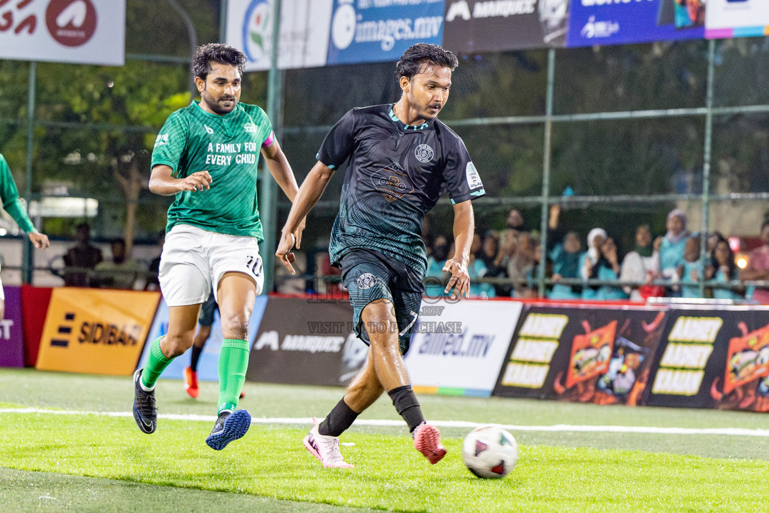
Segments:
[[[175,225],[166,235],[159,279],[168,306],[203,303],[211,288],[216,296],[219,281],[228,272],[250,276],[256,294],[261,294],[265,272],[255,237],[207,232],[191,225]]]

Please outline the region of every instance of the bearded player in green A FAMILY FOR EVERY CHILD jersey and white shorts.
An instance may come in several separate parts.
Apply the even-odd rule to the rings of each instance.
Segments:
[[[155,381],[192,345],[201,304],[213,289],[224,342],[218,418],[206,443],[218,451],[251,425],[248,411],[235,408],[248,368],[248,319],[264,283],[256,194],[260,152],[291,201],[298,192],[267,115],[239,103],[245,62],[231,46],[198,48],[192,72],[201,102],[171,114],[155,141],[149,188],[175,196],[159,274],[168,333],[151,342],[147,365],[134,374],[134,418],[141,431],[152,433],[158,418]],[[296,230],[297,239],[303,229],[304,224]]]

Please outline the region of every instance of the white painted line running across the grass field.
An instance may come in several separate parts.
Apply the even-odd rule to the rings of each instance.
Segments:
[[[45,408],[0,408],[0,415],[4,413],[21,414],[47,414],[47,415],[102,415],[104,417],[132,417],[131,411],[76,411],[76,410],[48,410]],[[215,415],[180,415],[166,413],[158,415],[158,418],[167,418],[175,421],[204,421],[213,422]],[[321,420],[320,418],[318,420]],[[251,424],[292,424],[312,425],[311,417],[252,417]],[[497,426],[508,431],[547,431],[560,433],[651,433],[656,435],[727,435],[727,436],[757,436],[769,438],[769,429],[745,429],[745,428],[657,428],[653,426],[618,426],[618,425],[568,425],[557,424],[549,426],[524,426],[512,424],[484,424],[468,421],[430,421],[431,425],[439,428],[465,428],[474,429],[480,426]],[[403,428],[406,423],[399,420],[358,418],[355,421],[358,426],[395,427]]]

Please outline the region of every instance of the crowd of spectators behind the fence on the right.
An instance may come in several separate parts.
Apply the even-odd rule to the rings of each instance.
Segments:
[[[740,285],[740,281],[769,280],[769,222],[761,229],[763,245],[747,255],[746,265],[740,269],[729,241],[718,232],[707,235],[707,258],[702,262],[701,234],[687,229],[686,215],[679,209],[667,215],[666,232],[657,238],[650,225],[639,225],[634,248],[623,256],[604,228],[593,228],[582,239],[577,232],[561,231],[560,216],[560,206],[553,205],[544,265],[548,298],[747,297],[769,302],[769,289]],[[540,234],[527,227],[517,209],[510,211],[505,224],[501,231],[474,235],[468,264],[471,296],[538,297],[543,257]],[[448,279],[443,266],[454,255],[454,246],[444,235],[427,234],[425,244],[429,255],[426,294],[440,295],[440,284]],[[701,281],[707,281],[704,295]]]

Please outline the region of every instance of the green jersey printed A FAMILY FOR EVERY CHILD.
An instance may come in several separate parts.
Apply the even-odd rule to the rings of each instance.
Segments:
[[[166,231],[193,225],[261,242],[256,175],[259,151],[273,140],[270,120],[256,105],[238,103],[229,114],[215,115],[192,102],[168,116],[155,140],[152,168],[168,165],[176,178],[208,171],[213,183],[208,190],[176,194]]]

